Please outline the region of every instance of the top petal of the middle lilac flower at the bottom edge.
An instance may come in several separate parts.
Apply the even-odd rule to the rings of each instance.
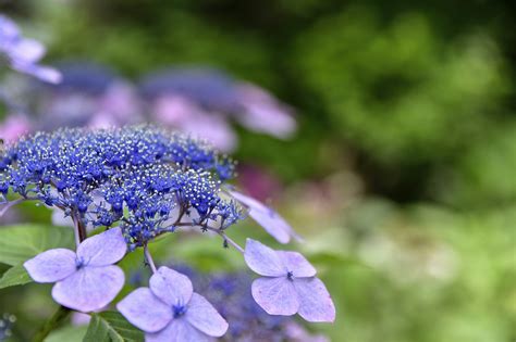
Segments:
[[[170,306],[188,304],[194,293],[188,277],[165,266],[150,277],[149,284],[152,293]]]

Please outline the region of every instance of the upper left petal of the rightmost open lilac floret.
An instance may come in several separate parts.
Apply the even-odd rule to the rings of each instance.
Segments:
[[[244,258],[247,266],[258,275],[286,277],[287,269],[277,252],[256,240],[247,239]]]

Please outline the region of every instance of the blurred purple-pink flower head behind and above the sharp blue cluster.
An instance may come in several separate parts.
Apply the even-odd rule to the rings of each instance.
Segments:
[[[282,139],[296,129],[291,109],[263,89],[234,80],[220,71],[162,71],[147,76],[140,89],[153,119],[204,135],[224,151],[234,149],[236,142],[229,124],[231,117],[250,130]]]

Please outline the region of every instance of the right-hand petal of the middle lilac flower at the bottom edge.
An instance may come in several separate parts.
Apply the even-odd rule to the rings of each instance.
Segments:
[[[220,338],[228,331],[228,322],[200,294],[194,292],[185,319],[204,333]]]

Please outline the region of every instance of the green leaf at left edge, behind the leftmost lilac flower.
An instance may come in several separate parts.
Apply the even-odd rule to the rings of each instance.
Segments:
[[[54,248],[72,248],[73,229],[45,225],[21,225],[0,228],[0,263],[20,265]]]

